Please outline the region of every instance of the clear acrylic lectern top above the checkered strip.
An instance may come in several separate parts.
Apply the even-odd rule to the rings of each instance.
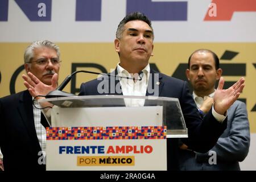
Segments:
[[[38,101],[51,127],[167,126],[167,138],[188,137],[177,98],[73,96]]]

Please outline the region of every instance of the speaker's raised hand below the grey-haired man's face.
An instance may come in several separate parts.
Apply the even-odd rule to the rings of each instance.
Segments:
[[[58,80],[57,73],[55,73],[52,76],[51,85],[44,84],[42,81],[40,81],[37,77],[35,77],[30,72],[27,73],[27,76],[22,75],[22,78],[24,79],[24,85],[26,86],[26,88],[28,89],[32,97],[46,96],[49,92],[57,88],[57,80]]]

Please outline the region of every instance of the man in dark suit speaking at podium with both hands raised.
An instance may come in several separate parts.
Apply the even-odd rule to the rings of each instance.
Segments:
[[[236,84],[226,90],[222,90],[224,79],[214,96],[214,106],[209,114],[201,122],[198,110],[187,82],[158,73],[150,68],[148,60],[152,56],[154,48],[154,31],[151,21],[142,13],[131,13],[119,23],[116,39],[114,40],[115,51],[119,55],[120,62],[117,65],[115,75],[138,76],[143,73],[141,81],[117,78],[114,85],[111,84],[112,77],[100,77],[81,85],[80,95],[98,94],[123,94],[125,96],[160,96],[179,98],[186,126],[188,128],[188,139],[183,142],[195,151],[207,152],[217,142],[218,137],[226,129],[226,110],[237,100],[245,86],[241,78]],[[29,75],[30,76],[30,75]],[[36,91],[42,84],[36,84],[38,80],[31,76],[32,81],[28,88],[31,94],[36,96]],[[105,84],[106,83],[106,84]],[[51,90],[47,90],[49,92]],[[44,92],[42,94],[47,94]],[[141,102],[126,103],[126,105],[143,105]],[[177,162],[178,142],[176,139],[168,139],[168,169],[178,169]]]

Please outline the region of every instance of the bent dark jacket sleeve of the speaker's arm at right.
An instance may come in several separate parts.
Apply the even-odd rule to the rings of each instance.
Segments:
[[[183,139],[183,142],[193,151],[209,151],[226,129],[228,117],[220,123],[213,117],[212,110],[210,110],[202,121],[195,101],[189,93],[187,82],[183,84],[183,91],[179,100],[188,129],[188,138]]]

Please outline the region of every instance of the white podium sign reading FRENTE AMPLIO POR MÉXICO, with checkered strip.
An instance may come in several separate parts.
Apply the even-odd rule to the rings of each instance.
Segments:
[[[49,127],[47,170],[167,170],[166,126]]]

